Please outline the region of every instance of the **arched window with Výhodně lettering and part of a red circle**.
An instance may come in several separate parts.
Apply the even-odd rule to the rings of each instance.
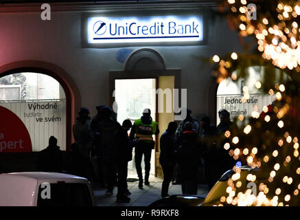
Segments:
[[[64,89],[57,80],[46,74],[19,72],[0,78],[0,106],[21,119],[31,139],[32,146],[27,147],[33,152],[46,148],[51,136],[57,138],[60,150],[66,151],[66,104]],[[7,125],[13,126],[10,123]],[[24,152],[20,147],[1,150]]]

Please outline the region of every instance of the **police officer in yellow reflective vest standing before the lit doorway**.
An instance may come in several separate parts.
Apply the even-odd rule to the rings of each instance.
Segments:
[[[143,175],[141,171],[142,157],[144,157],[145,162],[145,184],[150,184],[150,159],[152,149],[154,149],[155,145],[152,135],[159,133],[157,122],[154,122],[150,115],[150,109],[143,110],[143,116],[135,120],[135,124],[133,124],[130,131],[130,140],[134,142],[135,146],[135,168],[139,176],[139,188],[143,188]]]

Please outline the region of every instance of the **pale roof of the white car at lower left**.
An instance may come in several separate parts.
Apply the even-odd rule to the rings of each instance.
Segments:
[[[37,180],[45,180],[45,179],[82,179],[86,180],[84,177],[78,177],[76,175],[70,175],[66,173],[52,173],[52,172],[19,172],[19,173],[3,173],[1,175],[11,175],[14,177],[27,177],[30,179],[37,179]]]

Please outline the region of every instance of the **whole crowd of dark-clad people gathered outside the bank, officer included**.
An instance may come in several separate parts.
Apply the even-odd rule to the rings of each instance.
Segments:
[[[153,135],[159,134],[157,122],[151,118],[150,109],[144,109],[141,118],[124,120],[122,125],[112,117],[107,106],[98,106],[97,115],[89,117],[89,109],[82,107],[73,124],[71,152],[63,155],[57,146],[56,137],[49,138],[49,146],[38,155],[38,170],[65,172],[86,177],[106,187],[106,195],[113,194],[117,184],[117,202],[130,202],[128,190],[128,162],[132,160],[135,148],[135,167],[139,178],[139,188],[150,185],[150,160],[155,142]],[[179,124],[170,122],[160,137],[159,162],[163,170],[161,196],[168,196],[170,182],[182,186],[185,195],[196,195],[198,188],[198,168],[203,166],[204,176],[210,188],[214,186],[224,171],[232,168],[233,161],[224,152],[220,136],[230,131],[233,123],[225,109],[219,111],[220,124],[211,124],[208,117],[202,118],[202,134],[199,135],[198,120],[187,116]],[[128,135],[130,131],[130,135]],[[224,144],[223,144],[224,145]],[[97,158],[97,166],[91,164],[91,157]],[[144,158],[143,176],[141,162]]]

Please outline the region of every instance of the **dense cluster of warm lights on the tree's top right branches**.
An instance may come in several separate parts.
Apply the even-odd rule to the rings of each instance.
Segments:
[[[300,72],[300,1],[228,0],[223,6],[234,14],[241,36],[255,35],[264,59]]]

